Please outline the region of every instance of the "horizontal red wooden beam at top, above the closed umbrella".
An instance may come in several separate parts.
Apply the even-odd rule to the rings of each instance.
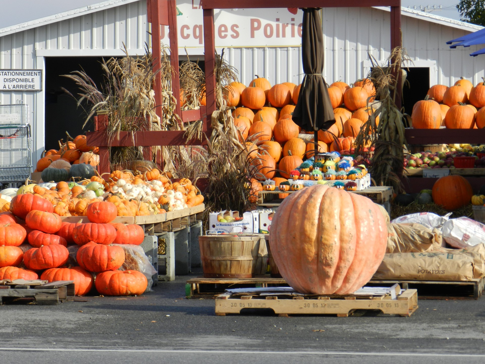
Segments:
[[[358,8],[401,6],[401,0],[201,0],[202,9],[258,8]]]

